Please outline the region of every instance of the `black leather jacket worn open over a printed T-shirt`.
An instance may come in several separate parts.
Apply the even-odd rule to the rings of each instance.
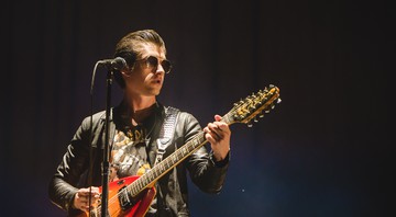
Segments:
[[[118,125],[120,114],[118,107],[111,110],[109,118],[109,138],[114,136],[114,129]],[[156,104],[153,133],[147,139],[147,146],[151,147],[148,158],[155,159],[156,145],[155,138],[158,135],[164,117],[169,111],[160,103]],[[101,162],[102,148],[105,145],[105,111],[94,115],[94,134],[91,137],[92,151],[92,186],[101,185]],[[67,146],[67,151],[64,155],[54,176],[48,186],[48,194],[51,201],[58,207],[65,209],[69,215],[77,212],[72,207],[74,195],[80,187],[88,186],[87,173],[89,168],[89,135],[90,135],[90,117],[86,117],[79,128],[77,129],[70,144]],[[201,127],[198,121],[189,113],[178,112],[176,119],[176,129],[172,145],[166,148],[164,159],[178,147],[185,145],[194,135],[196,135]],[[153,160],[151,160],[153,161]],[[162,176],[157,182],[157,203],[152,205],[151,210],[154,214],[147,213],[146,216],[189,216],[188,210],[188,192],[187,192],[187,173],[189,173],[191,181],[204,192],[217,194],[221,191],[226,173],[228,170],[229,157],[221,161],[215,162],[212,153],[208,152],[202,146],[182,163]],[[153,162],[150,162],[153,165]],[[187,172],[188,171],[188,172]],[[158,190],[160,189],[160,190]]]

